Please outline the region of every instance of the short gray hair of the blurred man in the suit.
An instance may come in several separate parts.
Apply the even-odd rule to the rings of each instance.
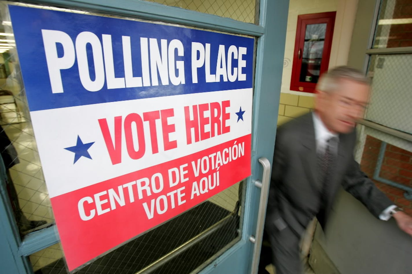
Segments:
[[[348,66],[334,67],[321,76],[316,85],[317,91],[332,93],[339,88],[339,81],[347,79],[365,85],[370,85],[370,79],[360,70]]]

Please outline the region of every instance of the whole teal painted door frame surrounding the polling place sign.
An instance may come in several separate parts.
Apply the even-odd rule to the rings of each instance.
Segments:
[[[148,20],[179,23],[185,26],[255,36],[257,39],[252,120],[252,176],[246,183],[246,198],[242,238],[201,273],[250,273],[253,244],[256,235],[260,189],[253,181],[262,180],[258,159],[272,163],[276,121],[279,109],[283,70],[286,24],[289,1],[260,0],[259,25],[243,23],[215,15],[168,7],[140,0],[41,0],[27,1],[41,5],[84,9],[99,13],[136,16]],[[5,168],[0,163],[0,183],[4,186]],[[33,273],[28,256],[59,241],[53,227],[19,239],[4,188],[0,203],[0,264],[4,273]]]

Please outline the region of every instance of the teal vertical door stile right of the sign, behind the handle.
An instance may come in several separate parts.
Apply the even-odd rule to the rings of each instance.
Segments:
[[[265,28],[264,34],[257,40],[255,86],[253,93],[252,120],[252,176],[246,181],[246,197],[242,241],[236,244],[212,262],[200,273],[225,273],[226,266],[245,265],[242,272],[250,273],[253,256],[253,244],[248,240],[250,235],[256,235],[256,223],[260,189],[254,186],[253,180],[262,180],[263,169],[258,159],[273,160],[273,149],[276,135],[277,114],[279,111],[280,89],[285,52],[286,26],[289,1],[260,1],[260,26]],[[246,257],[236,258],[241,250],[248,247]],[[246,261],[245,261],[246,260]],[[222,272],[220,272],[222,270]]]

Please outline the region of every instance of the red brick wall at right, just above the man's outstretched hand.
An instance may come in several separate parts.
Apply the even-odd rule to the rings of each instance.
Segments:
[[[361,160],[361,170],[372,179],[382,141],[367,135],[365,147]],[[412,187],[412,152],[400,149],[396,146],[386,144],[384,160],[379,177],[401,183]],[[401,207],[408,214],[412,215],[412,201],[405,199],[403,190],[389,186],[385,183],[375,182],[376,186],[382,190],[389,199],[398,207]]]

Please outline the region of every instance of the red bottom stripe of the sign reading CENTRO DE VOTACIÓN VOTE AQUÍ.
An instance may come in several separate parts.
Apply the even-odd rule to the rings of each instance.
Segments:
[[[69,270],[249,176],[250,142],[249,134],[53,197]]]

